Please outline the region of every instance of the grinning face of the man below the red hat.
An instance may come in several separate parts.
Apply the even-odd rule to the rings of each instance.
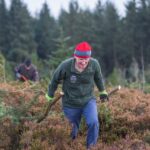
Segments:
[[[90,58],[78,58],[76,56],[75,56],[75,59],[76,59],[76,62],[75,62],[76,66],[81,70],[84,70],[87,67],[89,60],[90,60]]]

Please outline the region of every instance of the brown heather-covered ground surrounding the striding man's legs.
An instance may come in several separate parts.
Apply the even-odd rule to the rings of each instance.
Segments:
[[[0,149],[85,149],[85,122],[82,120],[78,138],[72,141],[71,126],[61,112],[61,101],[45,120],[36,123],[47,106],[43,90],[40,84],[0,84]],[[97,102],[100,138],[93,149],[150,149],[150,94],[122,88],[109,102]]]

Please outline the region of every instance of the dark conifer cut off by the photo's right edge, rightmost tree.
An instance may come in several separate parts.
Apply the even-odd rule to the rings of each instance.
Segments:
[[[144,54],[145,63],[149,62],[149,38],[150,38],[150,3],[148,4],[148,0],[140,0],[139,7],[137,8],[137,48],[138,51],[135,52],[136,57],[138,58],[141,64],[141,56]]]

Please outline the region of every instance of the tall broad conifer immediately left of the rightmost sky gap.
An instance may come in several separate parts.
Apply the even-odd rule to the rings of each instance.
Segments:
[[[107,2],[105,6],[99,0],[94,10],[94,55],[102,64],[108,75],[117,63],[116,36],[119,16],[114,5]]]

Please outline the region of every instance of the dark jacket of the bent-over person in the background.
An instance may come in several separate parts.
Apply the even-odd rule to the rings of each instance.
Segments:
[[[37,68],[33,64],[31,64],[30,69],[27,69],[25,64],[20,64],[15,68],[15,73],[16,74],[19,73],[23,75],[27,80],[31,80],[31,81],[39,80],[39,74]]]

